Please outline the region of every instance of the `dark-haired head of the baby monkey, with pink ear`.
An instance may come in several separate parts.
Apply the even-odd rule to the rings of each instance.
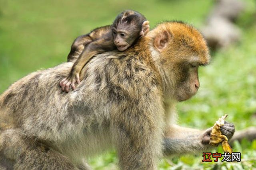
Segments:
[[[149,31],[149,21],[133,10],[126,10],[119,14],[112,24],[114,44],[119,51],[130,47],[140,36]]]

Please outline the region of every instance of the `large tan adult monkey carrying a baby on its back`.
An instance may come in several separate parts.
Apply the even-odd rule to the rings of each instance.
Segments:
[[[175,103],[196,94],[208,62],[196,29],[166,22],[125,52],[94,57],[70,93],[58,82],[72,63],[22,78],[0,96],[0,167],[88,169],[85,157],[113,146],[121,169],[151,170],[163,145],[168,154],[209,149],[210,130],[174,125]]]

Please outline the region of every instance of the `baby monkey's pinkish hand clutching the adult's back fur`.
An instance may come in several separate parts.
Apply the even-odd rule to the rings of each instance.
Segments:
[[[62,91],[69,92],[69,87],[71,86],[74,90],[76,89],[75,83],[80,83],[79,73],[71,73],[68,77],[60,81],[60,86]]]

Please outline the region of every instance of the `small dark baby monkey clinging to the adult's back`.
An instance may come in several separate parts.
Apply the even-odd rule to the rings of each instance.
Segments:
[[[60,82],[63,91],[68,92],[69,86],[75,89],[75,83],[80,83],[81,70],[94,55],[118,49],[124,51],[136,40],[149,31],[149,21],[133,10],[119,14],[112,25],[99,27],[86,35],[76,38],[68,55],[68,61],[82,53],[73,64],[69,75]]]

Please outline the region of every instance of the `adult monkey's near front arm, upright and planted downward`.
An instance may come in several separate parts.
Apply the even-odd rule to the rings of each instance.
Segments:
[[[147,90],[143,87],[142,89]],[[122,108],[115,107],[113,118],[118,121],[114,123],[114,129],[117,129],[114,134],[118,141],[120,169],[157,169],[156,158],[162,155],[164,110],[156,94],[156,90],[148,91],[146,96],[140,95],[136,102],[131,100],[123,104]],[[146,97],[152,100],[144,100]],[[142,104],[146,106],[143,109]]]

